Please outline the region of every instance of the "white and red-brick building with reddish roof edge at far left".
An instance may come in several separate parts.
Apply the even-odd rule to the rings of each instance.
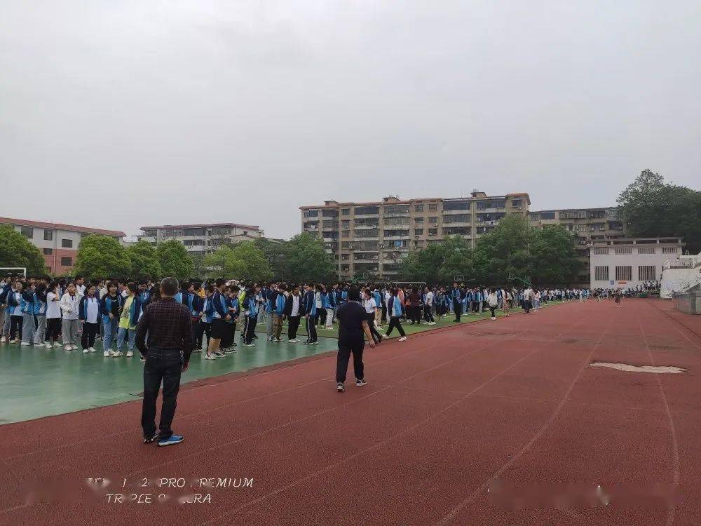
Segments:
[[[81,239],[90,234],[111,236],[124,243],[126,234],[118,230],[77,227],[74,224],[46,223],[0,217],[0,223],[10,224],[39,248],[46,260],[46,271],[62,276],[73,269]]]

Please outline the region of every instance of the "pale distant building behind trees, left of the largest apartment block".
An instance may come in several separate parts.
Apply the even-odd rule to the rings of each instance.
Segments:
[[[139,240],[153,245],[177,239],[192,256],[203,256],[217,250],[223,243],[238,243],[264,237],[258,225],[239,223],[164,224],[161,227],[141,227]]]

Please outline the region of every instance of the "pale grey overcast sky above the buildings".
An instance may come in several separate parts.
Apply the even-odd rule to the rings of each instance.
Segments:
[[[0,0],[0,215],[120,229],[300,205],[699,187],[701,2]]]

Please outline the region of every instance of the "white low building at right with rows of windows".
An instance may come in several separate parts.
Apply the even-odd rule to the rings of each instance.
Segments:
[[[636,288],[662,281],[662,267],[679,257],[681,238],[619,238],[591,247],[590,288]]]

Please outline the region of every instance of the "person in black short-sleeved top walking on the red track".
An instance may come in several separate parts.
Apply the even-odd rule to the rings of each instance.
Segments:
[[[368,345],[375,346],[367,324],[365,309],[360,305],[360,291],[358,289],[348,290],[348,302],[339,306],[336,311],[336,318],[339,320],[339,354],[336,358],[336,391],[343,393],[343,382],[346,382],[346,372],[348,371],[348,360],[353,353],[353,372],[355,373],[355,385],[364,386],[365,371],[362,363],[362,350],[365,348],[365,337]]]

